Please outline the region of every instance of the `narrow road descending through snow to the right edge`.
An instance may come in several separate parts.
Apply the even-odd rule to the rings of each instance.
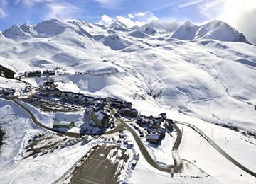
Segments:
[[[180,125],[186,125],[188,127],[191,127],[191,129],[195,130],[198,134],[200,134],[204,139],[206,139],[206,141],[213,146],[213,148],[215,148],[220,154],[222,154],[226,159],[228,159],[229,161],[231,161],[235,166],[238,166],[238,168],[242,169],[243,171],[245,171],[246,173],[249,173],[251,176],[256,177],[256,173],[251,171],[250,169],[246,168],[245,166],[242,166],[241,163],[239,163],[238,161],[235,161],[235,159],[233,159],[230,155],[228,155],[225,151],[223,151],[223,149],[220,148],[220,146],[218,146],[217,144],[215,144],[215,142],[213,142],[212,139],[210,139],[206,134],[204,134],[200,129],[198,129],[198,127],[196,127],[195,125],[191,125],[187,122],[175,122],[176,124],[180,124]]]

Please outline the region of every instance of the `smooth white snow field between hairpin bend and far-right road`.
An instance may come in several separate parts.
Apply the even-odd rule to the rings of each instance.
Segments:
[[[193,161],[195,166],[208,173],[220,183],[255,182],[253,176],[245,173],[228,161],[228,159],[225,159],[191,128],[183,125],[178,125],[178,127],[183,127],[183,140],[178,149],[182,159]],[[186,168],[183,173],[187,173]]]

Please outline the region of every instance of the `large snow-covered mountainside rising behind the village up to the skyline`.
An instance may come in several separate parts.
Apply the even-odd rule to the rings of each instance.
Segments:
[[[247,43],[222,21],[127,28],[53,19],[0,33],[0,62],[16,72],[58,66],[83,93],[130,100],[142,113],[161,113],[146,103],[256,130],[256,47]]]

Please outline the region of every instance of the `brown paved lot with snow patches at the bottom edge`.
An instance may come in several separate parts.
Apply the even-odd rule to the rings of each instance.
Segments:
[[[113,150],[114,149],[114,150]],[[85,156],[83,163],[75,168],[71,173],[71,184],[117,184],[118,176],[124,168],[119,169],[119,162],[127,163],[129,156],[125,153],[126,149],[117,146],[95,146],[89,157]],[[107,159],[107,155],[112,151],[112,159],[115,156],[115,163]],[[117,173],[116,173],[117,172]]]

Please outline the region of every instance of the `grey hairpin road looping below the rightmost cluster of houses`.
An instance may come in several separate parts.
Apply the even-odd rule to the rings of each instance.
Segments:
[[[177,138],[176,141],[174,143],[174,147],[172,149],[172,154],[174,157],[174,166],[170,166],[170,167],[165,167],[165,166],[160,166],[159,164],[157,164],[149,155],[149,152],[146,150],[144,144],[142,143],[141,139],[139,138],[139,136],[137,135],[137,133],[135,132],[135,130],[130,127],[129,125],[127,125],[123,120],[121,120],[120,117],[117,117],[117,120],[119,122],[122,123],[122,125],[124,125],[124,127],[127,128],[127,130],[129,130],[129,132],[132,133],[132,136],[134,137],[137,145],[139,146],[140,151],[142,152],[142,155],[144,156],[144,158],[146,159],[146,161],[153,166],[154,168],[158,169],[159,171],[164,171],[164,172],[168,172],[171,173],[171,168],[174,168],[174,172],[178,173],[180,171],[182,171],[183,168],[183,161],[180,159],[180,157],[178,156],[178,146],[181,144],[181,139],[182,139],[182,134],[181,134],[181,130],[179,130],[179,128],[175,125],[174,129],[177,132]]]

